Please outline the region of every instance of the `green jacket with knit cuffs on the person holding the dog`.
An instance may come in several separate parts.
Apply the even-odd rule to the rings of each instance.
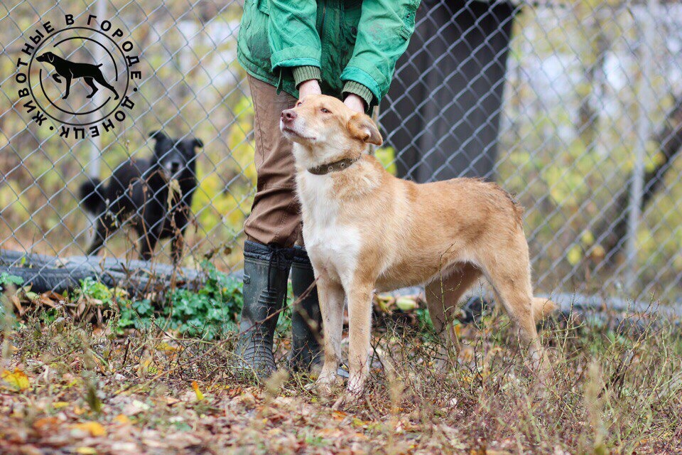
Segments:
[[[323,93],[379,104],[414,31],[420,0],[245,0],[239,63],[298,97],[303,80]]]

